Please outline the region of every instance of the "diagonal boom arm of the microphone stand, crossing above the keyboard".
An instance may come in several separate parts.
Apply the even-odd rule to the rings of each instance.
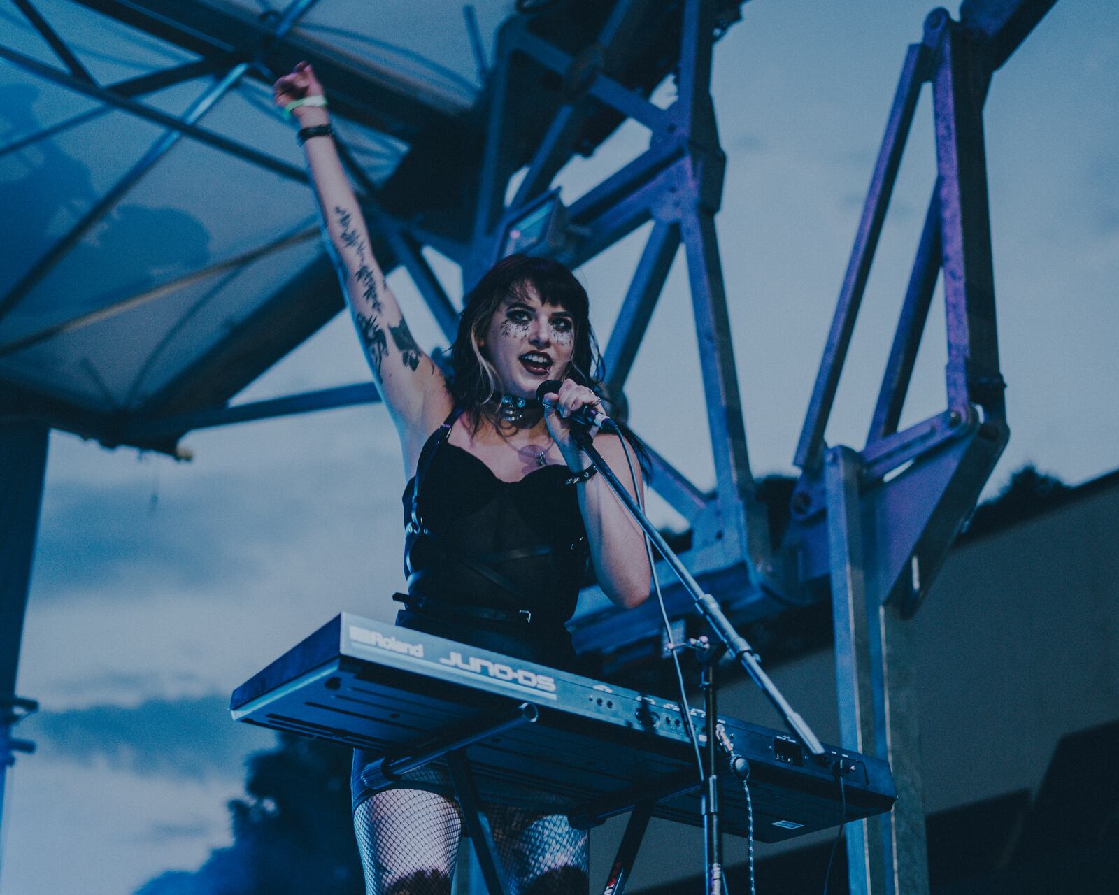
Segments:
[[[649,540],[652,541],[653,546],[660,553],[668,565],[671,567],[673,572],[676,573],[676,577],[680,580],[685,590],[692,595],[695,601],[696,609],[699,610],[699,614],[707,621],[707,624],[714,631],[715,635],[723,642],[727,651],[734,657],[734,660],[739,662],[745,670],[746,673],[753,679],[754,684],[761,689],[765,695],[765,698],[773,704],[773,707],[778,710],[778,714],[784,719],[786,725],[793,736],[801,742],[808,752],[816,756],[824,755],[824,746],[820,745],[820,741],[812,733],[812,728],[808,726],[800,715],[793,712],[792,706],[789,705],[788,700],[781,695],[781,691],[777,688],[777,685],[770,680],[769,675],[767,675],[761,665],[758,661],[758,653],[753,651],[751,646],[746,642],[746,639],[742,637],[731,624],[730,619],[723,612],[723,607],[718,604],[718,601],[714,596],[706,593],[699,583],[692,576],[692,573],[684,567],[684,563],[680,562],[673,548],[665,543],[665,538],[661,537],[657,528],[649,521],[649,517],[645,515],[638,502],[630,497],[630,492],[626,490],[626,486],[619,481],[618,477],[614,474],[613,470],[610,469],[610,464],[603,460],[602,454],[595,450],[592,443],[590,432],[581,425],[573,425],[572,432],[575,439],[575,443],[579,445],[594,464],[594,468],[599,470],[599,473],[610,483],[614,493],[618,498],[626,505],[626,509],[629,510],[630,516],[637,521],[638,525],[645,529],[645,533],[649,536]]]

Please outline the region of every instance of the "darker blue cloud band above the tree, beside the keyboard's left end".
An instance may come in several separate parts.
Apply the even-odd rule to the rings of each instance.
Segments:
[[[217,694],[148,699],[135,707],[96,705],[40,712],[21,729],[45,756],[78,764],[98,761],[135,774],[239,778],[246,753],[269,748],[272,737],[229,718]],[[152,835],[169,836],[170,829]],[[186,832],[179,830],[179,836]],[[190,833],[194,835],[194,833]]]

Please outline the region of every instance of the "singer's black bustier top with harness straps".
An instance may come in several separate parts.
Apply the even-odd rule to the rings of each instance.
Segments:
[[[571,472],[547,465],[519,481],[498,479],[448,442],[458,415],[427,439],[419,486],[413,479],[404,489],[408,594],[529,612],[528,639],[566,638],[587,556],[579,498],[565,484]]]

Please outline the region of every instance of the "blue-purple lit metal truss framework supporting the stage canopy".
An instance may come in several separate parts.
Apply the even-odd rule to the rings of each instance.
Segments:
[[[15,307],[179,139],[201,141],[305,182],[304,172],[198,124],[241,78],[267,81],[302,58],[311,59],[327,83],[338,85],[337,95],[333,87],[331,94],[337,114],[412,141],[408,163],[393,177],[396,182],[379,190],[345,145],[341,150],[357,182],[378,256],[387,268],[402,265],[407,271],[448,339],[453,338],[458,311],[425,260],[424,246],[460,264],[463,285],[469,288],[497,258],[507,226],[547,191],[574,154],[593,149],[622,121],[633,120],[648,129],[650,141],[643,153],[566,208],[567,239],[553,254],[579,266],[651,223],[604,350],[606,389],[620,399],[668,272],[683,247],[716,484],[714,493],[705,493],[653,449],[650,486],[692,526],[693,547],[684,559],[736,623],[831,594],[844,745],[890,760],[903,794],[899,809],[888,818],[864,821],[857,831],[848,831],[852,891],[875,895],[928,891],[916,734],[913,718],[903,717],[897,708],[912,696],[905,620],[928,593],[1008,437],[995,329],[981,111],[993,72],[1055,0],[965,0],[958,21],[935,10],[925,22],[921,43],[909,48],[797,447],[801,475],[790,508],[792,521],[775,547],[750,470],[715,229],[725,157],[709,93],[711,63],[717,35],[739,16],[739,0],[676,0],[664,9],[652,0],[618,0],[603,6],[596,34],[575,41],[580,48],[574,50],[571,34],[561,31],[552,39],[548,32],[549,25],[558,27],[563,9],[551,20],[548,13],[515,17],[498,34],[496,58],[472,109],[455,107],[453,100],[435,91],[417,96],[410,93],[408,85],[393,83],[385,72],[363,69],[351,59],[332,56],[329,47],[293,32],[313,0],[297,0],[279,17],[264,20],[219,2],[76,0],[200,56],[110,86],[94,82],[30,0],[13,2],[55,48],[63,67],[46,66],[4,47],[0,47],[0,57],[96,98],[105,107],[124,110],[168,130],[0,299],[0,314]],[[647,60],[634,74],[634,59],[642,41],[648,44],[652,19],[668,21],[665,27],[675,29],[674,49],[651,64]],[[649,96],[673,70],[677,98],[661,109]],[[535,77],[524,77],[526,73]],[[215,83],[179,119],[137,98],[198,74],[213,74]],[[557,83],[558,88],[554,86]],[[866,444],[859,451],[829,447],[825,428],[924,83],[932,85],[933,94],[937,187]],[[23,138],[19,144],[0,148],[0,152],[13,151],[41,139],[47,131],[58,133],[98,113],[94,110],[75,116]],[[464,208],[466,214],[402,205],[399,197],[407,190],[399,183],[415,186],[416,172],[423,170],[423,152],[432,151],[434,141],[449,139],[463,148],[463,171],[470,171],[454,181],[460,191],[450,202]],[[510,180],[518,172],[519,186],[506,202]],[[941,270],[948,320],[947,408],[899,432]],[[4,469],[22,464],[39,470],[41,491],[45,426],[92,435],[111,445],[175,453],[181,435],[192,428],[377,399],[374,389],[359,385],[248,407],[227,405],[244,385],[341,308],[337,286],[327,289],[333,275],[325,257],[299,271],[266,302],[273,319],[288,318],[286,329],[278,331],[274,323],[266,326],[251,318],[144,408],[125,418],[106,423],[62,399],[6,386],[0,396],[7,412],[0,432],[4,435]],[[329,298],[308,298],[326,294]],[[278,314],[278,308],[289,309],[291,314]],[[265,330],[266,338],[262,336]],[[35,433],[28,435],[27,426]],[[30,540],[23,539],[26,556],[21,553],[22,558],[16,557],[19,562],[9,564],[19,574],[0,578],[2,633],[8,639],[15,637],[17,644],[27,597],[29,545],[34,545],[38,518],[38,500],[32,502],[34,512],[27,510],[30,505],[26,500],[20,503],[17,520],[21,531],[30,533]],[[683,592],[669,587],[666,599],[671,616],[689,613],[690,603]],[[602,654],[608,668],[612,662],[659,653],[658,630],[655,607],[630,612],[623,620],[601,592],[584,594],[573,621],[579,646]],[[10,681],[0,681],[0,696],[13,686],[15,668]],[[7,726],[0,727],[7,737]],[[0,743],[7,742],[0,738]]]

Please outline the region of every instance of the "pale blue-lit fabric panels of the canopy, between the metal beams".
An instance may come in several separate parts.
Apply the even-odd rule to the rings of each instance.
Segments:
[[[284,11],[253,0],[176,6],[265,23]],[[35,8],[102,87],[200,58],[88,4],[35,0]],[[513,2],[473,9],[482,53],[491,56]],[[478,102],[483,72],[460,2],[319,0],[290,37],[395,78],[441,114],[466,115]],[[70,75],[10,6],[0,9],[0,47]],[[0,397],[7,387],[95,416],[158,413],[169,386],[320,258],[311,191],[186,135],[144,168],[164,126],[32,74],[18,59],[2,62]],[[232,64],[131,98],[182,116]],[[293,125],[272,106],[264,77],[242,77],[197,124],[302,168]],[[338,131],[375,185],[410,149],[398,134],[359,121],[339,119]],[[134,183],[114,197],[129,178]],[[101,214],[91,219],[92,211]],[[68,236],[73,244],[59,251]]]

